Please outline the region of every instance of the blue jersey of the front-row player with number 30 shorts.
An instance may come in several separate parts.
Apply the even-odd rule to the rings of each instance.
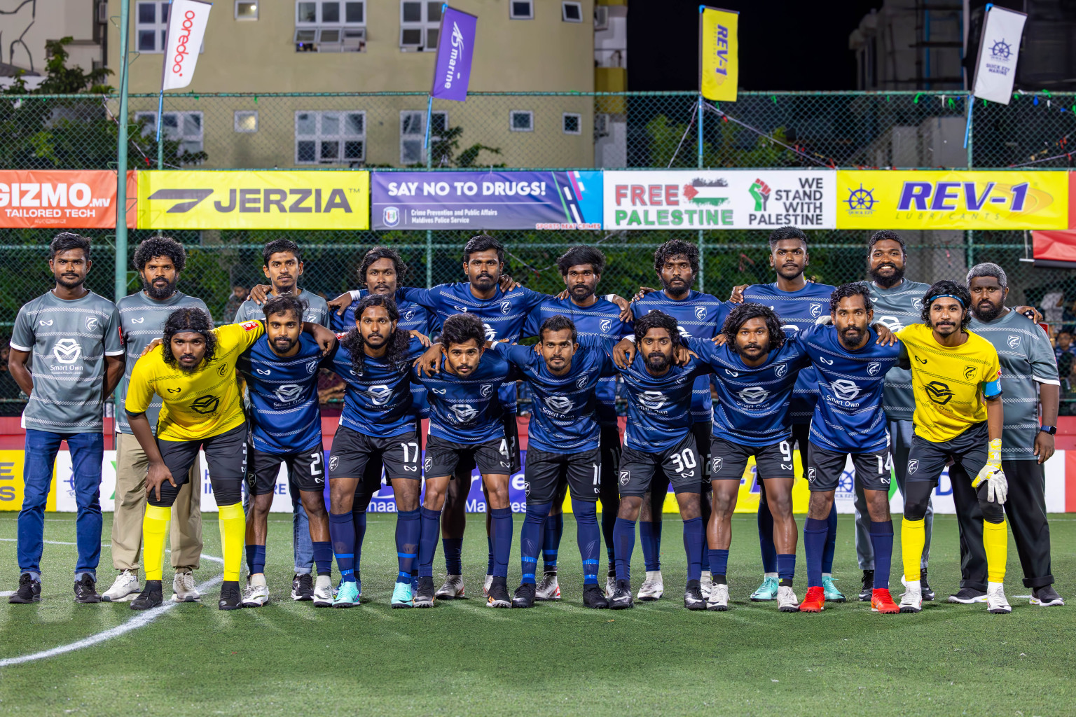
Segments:
[[[624,446],[643,453],[661,453],[682,441],[695,422],[692,391],[698,377],[705,381],[708,373],[709,365],[692,358],[686,365],[674,363],[664,375],[652,376],[647,371],[642,352],[637,350],[632,364],[620,370],[627,392]]]

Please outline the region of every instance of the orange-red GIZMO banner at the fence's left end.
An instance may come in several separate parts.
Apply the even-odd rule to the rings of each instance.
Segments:
[[[134,228],[138,196],[127,172],[127,227]],[[97,170],[0,170],[0,227],[113,229],[116,173]]]

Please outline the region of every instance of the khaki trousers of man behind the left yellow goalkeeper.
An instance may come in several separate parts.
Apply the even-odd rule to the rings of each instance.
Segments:
[[[116,570],[139,569],[142,553],[142,518],[145,515],[145,476],[150,461],[138,439],[116,435],[116,499],[112,515],[112,565]],[[201,557],[201,462],[196,458],[187,482],[172,505],[172,568],[176,572],[198,570]]]

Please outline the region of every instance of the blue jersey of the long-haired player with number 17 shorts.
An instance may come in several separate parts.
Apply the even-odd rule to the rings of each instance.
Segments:
[[[355,370],[342,343],[334,352],[332,370],[348,384],[341,426],[379,439],[417,432],[409,370],[426,352],[422,342],[411,339],[407,353],[395,363],[366,356],[362,371]]]

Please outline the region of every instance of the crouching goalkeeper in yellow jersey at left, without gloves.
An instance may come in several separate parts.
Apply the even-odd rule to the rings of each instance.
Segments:
[[[317,339],[323,350],[336,342],[331,331],[316,324],[303,324],[302,329]],[[246,527],[241,502],[246,417],[236,379],[236,360],[264,334],[263,321],[214,329],[213,320],[201,309],[178,309],[165,320],[160,345],[151,344],[134,364],[127,389],[127,418],[150,461],[150,471],[142,520],[145,588],[131,602],[132,610],[148,610],[161,603],[161,562],[171,506],[199,448],[206,451],[213,497],[221,511],[224,585],[217,606],[242,607],[239,570]],[[156,436],[145,417],[154,393],[164,401]]]

